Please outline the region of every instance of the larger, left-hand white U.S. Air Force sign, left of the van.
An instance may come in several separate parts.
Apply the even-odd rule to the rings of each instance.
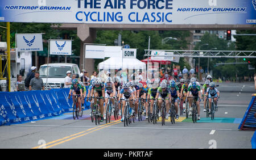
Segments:
[[[18,52],[43,50],[42,33],[16,34],[16,42]]]

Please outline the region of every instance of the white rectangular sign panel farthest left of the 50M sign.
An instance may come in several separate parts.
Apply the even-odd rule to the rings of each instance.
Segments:
[[[85,58],[104,59],[105,45],[85,45]]]

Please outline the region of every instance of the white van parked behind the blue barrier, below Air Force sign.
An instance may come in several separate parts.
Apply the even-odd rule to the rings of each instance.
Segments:
[[[48,64],[48,79],[47,79],[47,64],[41,65],[39,69],[39,77],[43,79],[45,89],[59,89],[64,87],[67,71],[76,74],[79,78],[80,70],[77,64],[53,63]],[[46,81],[48,85],[46,85]]]

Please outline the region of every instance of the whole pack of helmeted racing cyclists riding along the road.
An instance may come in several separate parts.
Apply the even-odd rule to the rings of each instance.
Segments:
[[[177,84],[178,83],[178,84]],[[88,92],[86,93],[86,87],[84,83],[78,82],[77,79],[72,80],[72,86],[69,91],[69,98],[73,95],[79,95],[80,99],[79,103],[79,115],[81,116],[81,111],[84,109],[84,101],[87,100],[90,103],[90,107],[92,112],[95,111],[95,105],[97,102],[97,98],[100,98],[100,113],[101,118],[100,121],[104,121],[106,118],[106,105],[108,104],[108,100],[111,100],[112,105],[118,103],[119,116],[121,116],[121,121],[124,119],[124,112],[126,102],[125,100],[129,99],[129,104],[132,108],[130,110],[130,114],[135,113],[135,117],[138,117],[138,103],[139,98],[141,98],[141,103],[143,105],[143,113],[148,117],[152,115],[152,107],[154,101],[156,100],[156,104],[159,108],[162,106],[162,103],[165,102],[166,111],[170,110],[171,103],[174,103],[175,111],[176,111],[176,119],[179,119],[179,103],[189,103],[189,115],[191,115],[191,105],[192,98],[187,99],[188,97],[195,97],[196,106],[197,106],[197,120],[200,120],[200,100],[204,96],[204,112],[206,112],[205,106],[207,102],[207,97],[209,98],[209,112],[211,109],[212,99],[214,104],[217,106],[217,99],[220,96],[219,91],[216,88],[214,82],[212,82],[212,77],[210,75],[207,76],[207,80],[205,81],[202,89],[200,87],[200,83],[196,81],[196,78],[191,79],[180,79],[180,82],[175,82],[174,79],[171,79],[169,82],[167,79],[163,79],[160,81],[159,78],[155,79],[147,79],[146,83],[141,83],[139,80],[134,80],[130,82],[119,82],[117,77],[107,77],[106,79],[102,79],[99,77],[93,78],[88,85]],[[86,96],[87,95],[87,96]],[[73,103],[75,103],[74,96]],[[109,99],[112,98],[112,99]],[[171,100],[172,99],[172,100]],[[183,105],[185,106],[185,105]],[[150,109],[149,109],[150,108]],[[148,112],[150,110],[150,112]],[[182,110],[182,109],[181,109]],[[185,107],[183,107],[183,112],[185,112]],[[151,114],[151,115],[148,115]],[[161,112],[158,113],[159,116]],[[90,113],[92,116],[92,113]],[[166,112],[165,119],[168,119],[169,112]]]

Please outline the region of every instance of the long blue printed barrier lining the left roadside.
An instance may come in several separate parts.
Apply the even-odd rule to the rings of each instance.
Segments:
[[[27,123],[72,112],[69,89],[0,92],[0,126]],[[90,103],[85,103],[85,109]]]

